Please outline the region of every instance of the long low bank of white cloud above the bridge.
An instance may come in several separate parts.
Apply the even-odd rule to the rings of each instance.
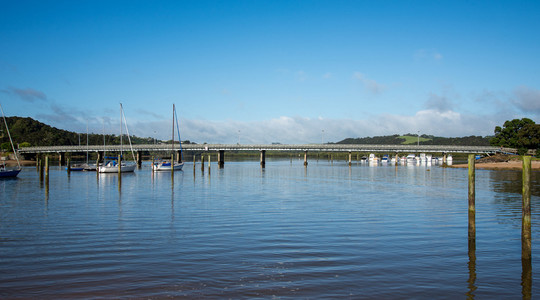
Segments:
[[[490,135],[497,120],[489,116],[463,115],[452,110],[425,109],[414,115],[377,115],[365,120],[325,119],[282,116],[257,121],[203,121],[181,120],[182,140],[196,143],[269,144],[338,142],[345,138],[415,133],[445,137]],[[138,122],[133,134],[140,137],[155,136],[170,139],[169,122]],[[323,131],[324,130],[324,134]]]

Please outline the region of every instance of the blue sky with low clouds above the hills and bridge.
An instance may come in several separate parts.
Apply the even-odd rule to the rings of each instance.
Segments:
[[[320,143],[540,116],[540,1],[0,0],[0,103],[57,128]]]

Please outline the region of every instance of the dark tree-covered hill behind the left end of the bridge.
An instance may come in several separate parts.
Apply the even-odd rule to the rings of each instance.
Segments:
[[[79,145],[79,134],[76,132],[51,127],[32,118],[7,117],[6,121],[15,146],[23,143],[28,146]],[[2,148],[7,149],[10,147],[9,137],[5,130],[4,122],[1,123],[0,144]],[[108,145],[120,144],[120,136],[105,135],[105,140]],[[151,144],[153,143],[153,139],[131,136],[131,142],[133,144]],[[5,147],[6,143],[8,143],[7,147]],[[86,145],[86,134],[80,134],[80,143],[81,145]],[[89,134],[88,143],[90,145],[102,145],[103,135]]]

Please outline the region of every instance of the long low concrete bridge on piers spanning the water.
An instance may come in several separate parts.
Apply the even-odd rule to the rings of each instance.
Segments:
[[[242,145],[242,144],[182,144],[184,151],[205,151],[217,152],[218,164],[223,167],[225,162],[225,151],[259,151],[261,155],[261,165],[265,165],[266,151],[302,151],[304,152],[304,164],[307,165],[308,152],[349,152],[349,158],[352,152],[363,153],[473,153],[473,154],[495,154],[497,152],[512,152],[513,149],[501,149],[490,146],[452,146],[452,145],[366,145],[366,144],[271,144],[271,145]],[[129,146],[123,145],[90,145],[90,146],[42,146],[25,147],[18,150],[19,154],[47,154],[55,153],[60,156],[62,163],[66,153],[98,153],[98,160],[103,159],[104,152],[124,152],[131,151]],[[178,145],[176,159],[180,160]],[[171,152],[171,144],[143,144],[133,145],[133,151],[136,152],[137,162],[141,163],[141,152]],[[349,159],[350,160],[350,159]]]

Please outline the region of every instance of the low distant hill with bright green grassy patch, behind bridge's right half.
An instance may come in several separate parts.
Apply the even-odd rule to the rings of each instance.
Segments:
[[[364,138],[347,138],[336,144],[368,144],[368,145],[414,145],[420,140],[421,145],[464,145],[464,146],[489,146],[491,137],[466,136],[466,137],[436,137],[432,135],[388,135]]]

